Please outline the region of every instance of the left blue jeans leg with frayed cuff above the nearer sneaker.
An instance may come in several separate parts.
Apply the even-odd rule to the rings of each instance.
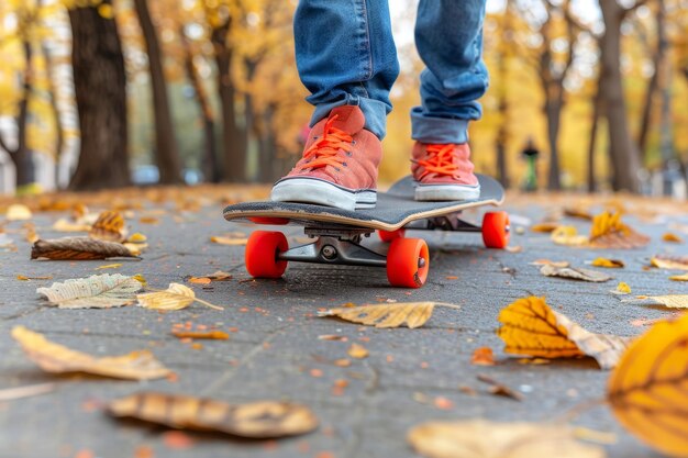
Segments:
[[[387,0],[300,0],[293,18],[297,67],[315,107],[311,125],[333,108],[360,107],[378,138],[399,75]]]

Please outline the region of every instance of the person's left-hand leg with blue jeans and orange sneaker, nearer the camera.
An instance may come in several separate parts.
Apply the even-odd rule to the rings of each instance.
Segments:
[[[270,199],[375,206],[389,91],[399,74],[387,0],[301,0],[293,25],[299,76],[315,111],[303,157]]]

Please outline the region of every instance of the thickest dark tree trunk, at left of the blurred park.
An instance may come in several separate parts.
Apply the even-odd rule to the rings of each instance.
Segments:
[[[111,0],[102,3],[111,4]],[[69,10],[74,88],[81,146],[70,189],[130,183],[126,149],[126,75],[116,23],[97,8]]]

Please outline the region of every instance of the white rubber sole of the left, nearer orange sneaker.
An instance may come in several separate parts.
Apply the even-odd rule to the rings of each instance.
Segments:
[[[315,203],[354,211],[375,208],[377,192],[374,190],[347,190],[314,178],[288,178],[273,187],[270,200]]]

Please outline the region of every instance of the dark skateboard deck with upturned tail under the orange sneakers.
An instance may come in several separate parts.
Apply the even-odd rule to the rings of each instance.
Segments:
[[[413,179],[408,176],[392,185],[387,192],[378,192],[377,204],[374,209],[348,211],[309,203],[260,201],[230,205],[224,210],[224,219],[301,226],[319,222],[396,231],[418,220],[457,213],[475,206],[500,205],[504,200],[504,190],[501,185],[485,175],[478,175],[478,180],[480,181],[480,198],[475,200],[415,201]]]

